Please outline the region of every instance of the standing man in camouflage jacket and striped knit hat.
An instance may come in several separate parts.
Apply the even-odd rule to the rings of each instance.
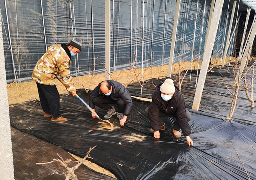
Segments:
[[[67,91],[73,96],[76,95],[69,65],[71,57],[79,53],[81,47],[79,39],[71,40],[68,45],[50,46],[33,70],[32,79],[37,85],[44,116],[52,116],[52,121],[68,121],[60,113],[60,94],[56,88],[55,77],[60,75]]]

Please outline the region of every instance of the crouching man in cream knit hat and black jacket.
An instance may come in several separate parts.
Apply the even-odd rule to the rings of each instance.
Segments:
[[[181,137],[179,130],[182,130],[188,145],[193,145],[189,135],[191,133],[188,122],[191,119],[191,114],[187,110],[183,94],[179,88],[173,84],[173,79],[166,79],[164,83],[156,87],[156,91],[152,94],[152,102],[145,109],[145,114],[150,119],[154,138],[160,138],[159,130],[165,129],[165,123],[160,117],[174,117],[176,121],[172,126],[173,135],[176,138]]]

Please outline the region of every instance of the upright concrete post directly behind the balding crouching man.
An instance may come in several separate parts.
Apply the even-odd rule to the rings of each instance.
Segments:
[[[110,0],[105,0],[105,77],[106,80],[110,79],[110,20],[111,20],[111,13],[110,13]],[[114,59],[115,60],[115,59]],[[108,72],[108,73],[107,73]]]

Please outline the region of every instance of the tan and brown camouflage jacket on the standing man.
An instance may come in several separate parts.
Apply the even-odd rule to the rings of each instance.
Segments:
[[[45,54],[37,61],[32,79],[40,84],[56,86],[55,77],[60,75],[68,92],[74,92],[76,87],[72,82],[69,70],[71,56],[69,57],[63,47],[53,45],[47,49]]]

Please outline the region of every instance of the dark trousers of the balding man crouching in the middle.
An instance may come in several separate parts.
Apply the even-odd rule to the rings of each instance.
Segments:
[[[117,104],[117,112],[124,113],[125,102],[122,99],[113,100],[111,96],[95,97],[92,102],[103,110],[110,110],[109,104]]]

